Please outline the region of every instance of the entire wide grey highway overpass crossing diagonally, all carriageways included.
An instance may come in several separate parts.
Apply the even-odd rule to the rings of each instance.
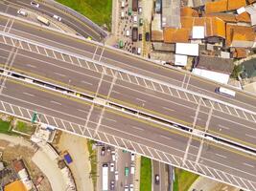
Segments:
[[[4,15],[0,50],[1,111],[256,190],[255,96]]]

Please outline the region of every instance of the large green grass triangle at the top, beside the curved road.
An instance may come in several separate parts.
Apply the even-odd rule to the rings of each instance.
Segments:
[[[99,26],[111,29],[112,0],[58,0],[59,3],[80,12]]]

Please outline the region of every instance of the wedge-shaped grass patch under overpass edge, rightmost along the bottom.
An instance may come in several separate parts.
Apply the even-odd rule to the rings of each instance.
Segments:
[[[194,173],[175,168],[174,191],[187,191],[198,177]]]

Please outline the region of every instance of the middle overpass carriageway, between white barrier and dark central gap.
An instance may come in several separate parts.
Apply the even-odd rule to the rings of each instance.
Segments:
[[[25,44],[23,46],[28,47]],[[171,96],[166,92],[160,92],[160,89],[152,90],[147,88],[142,83],[128,83],[123,80],[124,74],[124,77],[121,75],[120,78],[114,79],[113,76],[103,75],[100,72],[81,68],[79,65],[44,55],[45,50],[40,47],[31,46],[30,49],[32,51],[18,50],[12,63],[13,71],[77,89],[81,93],[91,96],[97,93],[98,96],[108,97],[113,102],[119,102],[128,107],[145,111],[156,117],[167,118],[189,126],[194,125],[199,130],[204,131],[206,125],[208,125],[208,133],[256,148],[254,119],[249,118],[249,115],[247,115],[247,118],[245,116],[244,118],[237,117],[237,113],[244,114],[240,110],[234,110],[231,107],[209,102],[208,100],[201,100],[201,104],[199,104],[198,96],[184,94],[175,89],[170,89],[173,92],[173,96]],[[0,50],[1,66],[1,63],[8,61],[12,46],[0,44]],[[36,56],[33,50],[38,51]],[[54,54],[53,52],[48,52],[48,55]],[[59,53],[55,54],[61,57]],[[65,55],[63,54],[62,56]],[[3,64],[2,67],[4,67]],[[112,90],[109,93],[111,86]],[[108,96],[108,94],[110,95]],[[195,101],[195,98],[197,101]],[[216,105],[216,109],[212,113],[211,107],[209,107],[211,104]],[[196,115],[197,110],[198,115]]]

